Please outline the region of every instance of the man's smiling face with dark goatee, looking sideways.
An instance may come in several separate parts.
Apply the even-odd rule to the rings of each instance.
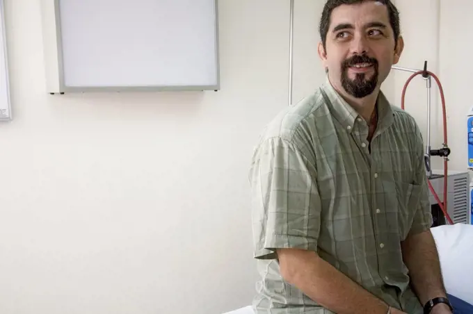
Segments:
[[[398,62],[401,38],[397,46],[387,7],[365,1],[332,11],[326,51],[319,44],[319,54],[331,83],[352,97],[362,98],[374,92]]]

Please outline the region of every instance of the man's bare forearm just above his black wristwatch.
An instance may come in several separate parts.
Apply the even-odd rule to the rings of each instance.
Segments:
[[[438,251],[431,231],[409,236],[401,245],[403,260],[419,301],[424,305],[434,297],[446,297]]]

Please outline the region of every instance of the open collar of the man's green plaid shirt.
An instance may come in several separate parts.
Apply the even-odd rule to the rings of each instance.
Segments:
[[[342,126],[351,133],[353,127],[355,126],[355,122],[362,121],[362,117],[356,112],[356,110],[350,106],[345,99],[333,88],[332,83],[330,83],[328,76],[326,76],[326,81],[323,83],[321,88],[326,95],[326,100],[328,102],[330,111],[332,115],[334,115],[335,119],[338,120]],[[385,94],[383,92],[379,92],[378,99],[376,100],[376,107],[378,109],[378,128],[383,129],[387,128],[392,124],[394,121],[393,115],[394,112],[392,111],[391,105]]]

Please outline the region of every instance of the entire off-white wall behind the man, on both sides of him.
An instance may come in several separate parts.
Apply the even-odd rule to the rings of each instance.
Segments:
[[[45,93],[40,1],[5,1],[15,119],[0,124],[0,313],[218,314],[250,304],[247,170],[262,126],[287,106],[289,1],[219,1],[219,92],[55,96]],[[440,71],[450,165],[463,170],[467,49],[465,32],[447,24],[469,19],[442,1],[439,40],[438,1],[396,1],[399,65],[428,60]],[[296,0],[295,101],[324,78],[322,2]],[[407,77],[393,73],[383,88],[395,104]],[[422,78],[407,99],[424,127]]]

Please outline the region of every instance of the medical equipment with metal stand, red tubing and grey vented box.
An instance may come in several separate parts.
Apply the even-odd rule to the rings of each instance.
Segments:
[[[404,101],[406,98],[406,90],[412,78],[417,75],[422,75],[426,80],[427,87],[427,138],[426,151],[424,155],[424,163],[426,166],[426,175],[428,178],[428,188],[431,191],[430,201],[432,206],[432,214],[434,217],[434,226],[442,224],[456,224],[472,223],[471,204],[469,201],[469,174],[468,172],[452,172],[448,170],[448,157],[451,153],[447,144],[447,113],[445,110],[444,92],[442,83],[438,77],[427,70],[427,61],[424,63],[424,69],[408,69],[405,67],[393,66],[392,69],[397,69],[404,72],[411,72],[412,75],[406,81],[402,91],[401,108],[404,109]],[[431,87],[432,80],[438,85],[440,90],[440,97],[442,99],[442,117],[443,117],[443,137],[444,142],[442,148],[431,149]],[[431,157],[440,156],[444,159],[444,170],[434,171],[431,168]],[[443,197],[440,197],[440,191]],[[451,202],[447,200],[450,199]],[[445,221],[445,219],[447,221]]]

